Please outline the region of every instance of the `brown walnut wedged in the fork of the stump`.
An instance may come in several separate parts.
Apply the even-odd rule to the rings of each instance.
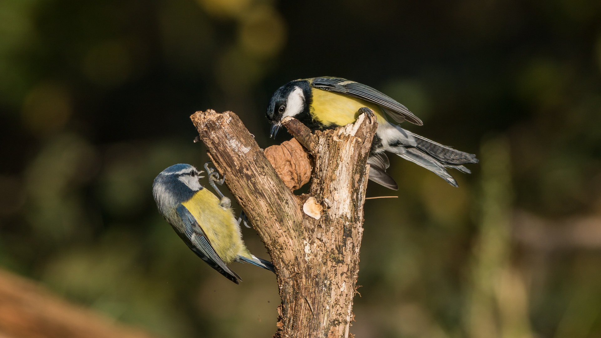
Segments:
[[[290,190],[296,190],[309,182],[313,165],[307,150],[293,138],[279,146],[271,146],[264,151],[279,178]]]

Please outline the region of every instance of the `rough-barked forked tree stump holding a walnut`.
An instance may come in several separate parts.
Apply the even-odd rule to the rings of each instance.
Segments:
[[[375,118],[361,114],[353,124],[314,134],[293,118],[284,121],[314,157],[309,192],[298,196],[236,114],[208,110],[191,118],[276,267],[282,303],[274,337],[348,337]],[[303,211],[310,204],[319,219]]]

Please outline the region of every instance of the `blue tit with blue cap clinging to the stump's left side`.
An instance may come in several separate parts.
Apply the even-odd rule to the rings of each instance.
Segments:
[[[219,174],[207,165],[205,168],[209,183],[221,199],[200,184],[200,173],[204,171],[189,164],[175,164],[154,179],[154,201],[160,214],[198,257],[234,283],[242,280],[227,266],[234,261],[274,271],[271,262],[249,253],[229,198],[215,186]]]

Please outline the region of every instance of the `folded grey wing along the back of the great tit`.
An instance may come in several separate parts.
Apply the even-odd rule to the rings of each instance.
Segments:
[[[358,97],[359,99],[376,103],[377,105],[385,108],[386,113],[388,113],[397,122],[409,121],[417,124],[418,126],[423,124],[423,122],[419,120],[418,117],[413,115],[413,113],[410,112],[405,106],[386,96],[386,94],[383,94],[367,85],[360,84],[359,82],[349,81],[342,78],[315,78],[313,79],[313,82],[311,82],[311,86],[323,90],[336,91],[338,93],[347,94],[349,96]]]

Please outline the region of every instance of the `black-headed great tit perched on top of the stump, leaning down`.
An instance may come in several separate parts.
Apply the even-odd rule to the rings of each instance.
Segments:
[[[333,129],[353,123],[362,107],[370,108],[377,117],[378,128],[367,163],[370,164],[369,178],[380,185],[398,189],[397,183],[386,173],[390,164],[385,152],[421,165],[453,186],[457,186],[457,182],[445,168],[469,174],[471,171],[463,164],[478,163],[475,155],[443,146],[390,123],[386,115],[398,123],[423,124],[409,109],[385,94],[347,79],[326,76],[282,85],[271,97],[267,120],[272,123],[271,137],[275,137],[284,117],[294,117],[312,131]]]

